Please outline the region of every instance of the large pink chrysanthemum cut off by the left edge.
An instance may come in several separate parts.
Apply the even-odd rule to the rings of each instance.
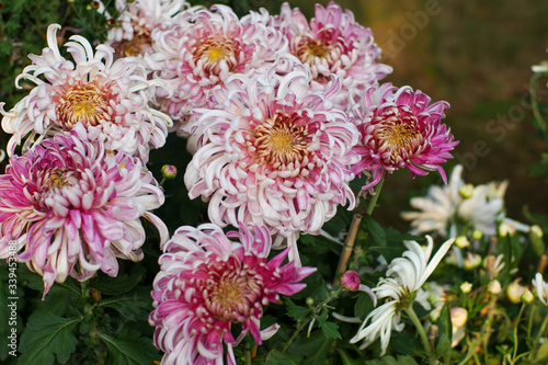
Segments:
[[[103,142],[58,134],[25,155],[11,156],[0,175],[0,258],[9,244],[24,247],[18,260],[44,276],[47,293],[68,275],[84,281],[99,270],[116,276],[116,258],[139,261],[149,210],[163,204],[162,190],[142,162],[124,153],[107,156]]]

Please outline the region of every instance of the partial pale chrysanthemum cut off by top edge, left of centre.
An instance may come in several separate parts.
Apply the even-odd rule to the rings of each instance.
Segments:
[[[107,34],[106,44],[119,57],[139,56],[152,52],[151,33],[174,24],[174,16],[190,8],[184,0],[116,0],[119,18]]]

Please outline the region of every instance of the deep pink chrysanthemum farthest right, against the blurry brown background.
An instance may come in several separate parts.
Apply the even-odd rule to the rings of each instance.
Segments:
[[[356,147],[362,161],[352,171],[372,172],[364,190],[374,187],[386,173],[399,168],[409,169],[414,175],[437,170],[447,182],[439,164],[453,158],[449,151],[458,145],[450,129],[441,123],[449,104],[429,104],[430,98],[421,91],[398,89],[391,83],[375,84],[359,98],[353,112],[362,135]]]

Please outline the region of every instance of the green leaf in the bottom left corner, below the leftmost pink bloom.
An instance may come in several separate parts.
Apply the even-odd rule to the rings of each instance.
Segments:
[[[78,342],[72,329],[81,321],[79,317],[61,318],[46,311],[31,315],[21,337],[19,351],[23,354],[20,364],[65,364],[76,351]],[[54,354],[57,355],[57,362]]]

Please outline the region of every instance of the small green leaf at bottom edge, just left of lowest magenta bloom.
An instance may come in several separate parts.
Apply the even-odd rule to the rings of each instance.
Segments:
[[[158,350],[149,339],[126,334],[112,338],[105,333],[99,337],[109,347],[110,365],[151,365],[159,360]]]

